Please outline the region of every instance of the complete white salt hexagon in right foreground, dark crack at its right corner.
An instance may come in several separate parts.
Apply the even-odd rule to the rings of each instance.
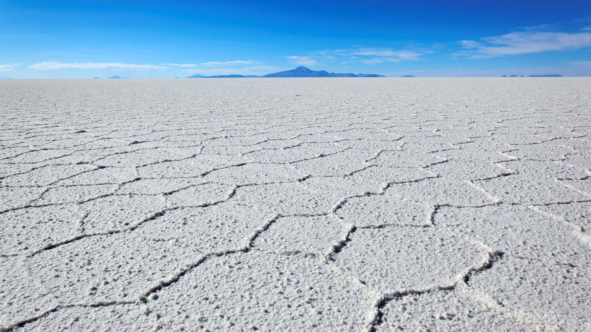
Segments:
[[[482,248],[432,227],[388,226],[356,230],[334,260],[368,287],[394,292],[452,287],[484,255]]]

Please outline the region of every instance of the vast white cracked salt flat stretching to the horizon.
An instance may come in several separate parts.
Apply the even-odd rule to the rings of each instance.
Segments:
[[[589,331],[591,79],[0,82],[2,331]]]

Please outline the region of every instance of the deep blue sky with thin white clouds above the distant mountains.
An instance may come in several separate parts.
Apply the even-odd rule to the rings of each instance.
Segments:
[[[591,76],[591,1],[0,0],[0,76]]]

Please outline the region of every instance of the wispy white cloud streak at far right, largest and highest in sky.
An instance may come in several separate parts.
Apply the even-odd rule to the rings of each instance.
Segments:
[[[576,50],[591,46],[591,32],[512,32],[482,38],[484,43],[463,40],[466,51],[454,53],[471,59],[512,56],[545,51]]]

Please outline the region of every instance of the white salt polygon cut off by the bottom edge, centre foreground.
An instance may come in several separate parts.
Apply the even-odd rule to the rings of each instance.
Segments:
[[[155,294],[148,307],[164,326],[212,331],[350,331],[371,305],[317,259],[256,250],[208,259]]]

